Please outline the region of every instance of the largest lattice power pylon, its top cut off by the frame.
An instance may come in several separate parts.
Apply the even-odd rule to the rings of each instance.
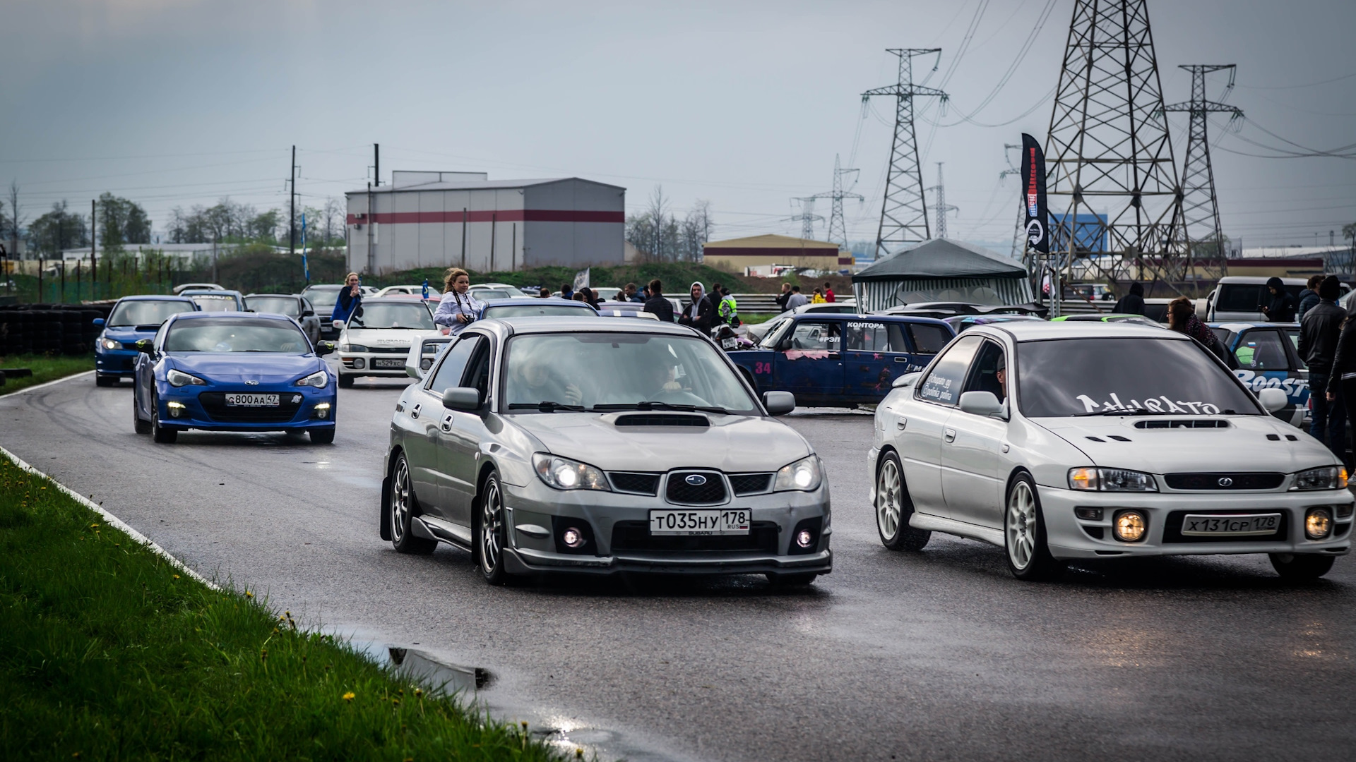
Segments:
[[[1075,0],[1045,138],[1062,278],[1186,279],[1191,258],[1146,0]],[[1035,275],[1037,255],[1022,260]]]

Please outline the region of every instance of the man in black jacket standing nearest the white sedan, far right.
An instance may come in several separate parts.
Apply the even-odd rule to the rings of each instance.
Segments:
[[[1323,392],[1330,388],[1337,339],[1342,334],[1347,310],[1337,305],[1341,283],[1329,275],[1318,283],[1318,305],[1304,313],[1299,325],[1299,357],[1309,366],[1309,399],[1313,400],[1313,420],[1309,433],[1328,445],[1337,460],[1347,462],[1347,411],[1341,395],[1329,401]]]

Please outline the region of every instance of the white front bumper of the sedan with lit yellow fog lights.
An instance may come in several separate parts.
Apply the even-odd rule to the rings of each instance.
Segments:
[[[1096,559],[1108,556],[1196,556],[1224,553],[1319,553],[1341,556],[1351,550],[1352,513],[1334,518],[1325,540],[1304,537],[1304,511],[1352,506],[1347,489],[1311,492],[1083,492],[1039,487],[1045,541],[1056,559]],[[1100,521],[1081,519],[1074,508],[1101,508]],[[1136,508],[1144,513],[1149,532],[1136,542],[1121,542],[1112,533],[1116,511]],[[1173,527],[1185,513],[1280,513],[1280,537],[1199,538],[1184,537]],[[1097,538],[1097,532],[1101,538]]]

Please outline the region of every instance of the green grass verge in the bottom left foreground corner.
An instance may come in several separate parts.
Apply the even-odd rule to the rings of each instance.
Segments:
[[[0,758],[560,759],[0,456]]]

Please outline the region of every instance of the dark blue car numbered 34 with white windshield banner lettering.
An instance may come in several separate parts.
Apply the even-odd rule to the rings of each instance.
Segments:
[[[759,393],[856,407],[883,400],[895,378],[922,370],[952,336],[930,317],[810,312],[782,317],[755,348],[730,359]]]

